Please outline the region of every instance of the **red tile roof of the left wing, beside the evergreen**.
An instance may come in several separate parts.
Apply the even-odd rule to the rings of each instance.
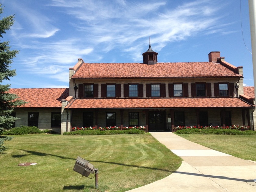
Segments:
[[[19,96],[28,103],[21,108],[61,107],[61,100],[69,96],[68,88],[10,89],[9,93]]]

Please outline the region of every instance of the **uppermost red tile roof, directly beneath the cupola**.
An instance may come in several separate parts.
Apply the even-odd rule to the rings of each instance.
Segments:
[[[238,77],[233,70],[215,62],[157,63],[83,63],[72,78],[179,78]]]

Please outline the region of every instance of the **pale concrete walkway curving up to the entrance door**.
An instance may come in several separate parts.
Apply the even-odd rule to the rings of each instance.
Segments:
[[[188,141],[171,132],[151,132],[183,161],[166,178],[130,192],[256,192],[256,162],[243,160]]]

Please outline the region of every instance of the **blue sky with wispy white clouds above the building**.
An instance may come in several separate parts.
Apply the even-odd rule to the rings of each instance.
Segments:
[[[243,66],[244,84],[254,86],[247,0],[2,0],[2,4],[1,19],[15,14],[2,41],[20,51],[11,64],[17,75],[4,82],[11,88],[68,87],[69,68],[78,58],[89,63],[143,62],[149,36],[158,62],[206,62],[209,52],[220,51],[225,61]]]

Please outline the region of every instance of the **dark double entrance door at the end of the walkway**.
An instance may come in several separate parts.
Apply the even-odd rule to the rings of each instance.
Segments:
[[[150,111],[149,114],[149,131],[166,131],[166,113],[161,111]]]

